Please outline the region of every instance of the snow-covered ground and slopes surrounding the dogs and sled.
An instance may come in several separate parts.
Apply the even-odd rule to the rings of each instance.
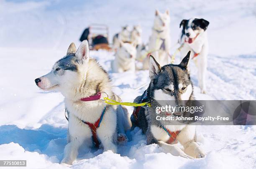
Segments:
[[[199,93],[196,68],[192,81],[197,99],[256,100],[256,1],[20,1],[0,0],[0,160],[27,160],[27,168],[63,168],[67,120],[63,96],[40,91],[34,79],[50,71],[71,42],[91,23],[105,23],[112,35],[122,25],[141,24],[143,41],[151,33],[154,10],[169,9],[171,39],[179,23],[197,16],[210,21],[207,95]],[[172,49],[173,52],[174,49]],[[133,101],[149,81],[148,71],[111,73],[113,53],[91,51],[110,73],[115,93]],[[177,56],[179,57],[179,56]],[[177,59],[178,60],[178,59]],[[131,114],[132,108],[128,108]],[[255,168],[255,126],[197,126],[204,159],[184,159],[146,146],[141,130],[118,146],[118,154],[82,150],[71,168]]]

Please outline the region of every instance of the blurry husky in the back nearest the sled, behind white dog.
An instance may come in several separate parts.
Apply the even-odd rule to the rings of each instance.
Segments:
[[[116,50],[120,46],[120,42],[131,42],[131,32],[128,30],[128,26],[124,26],[120,33],[117,33],[113,37],[113,48]]]

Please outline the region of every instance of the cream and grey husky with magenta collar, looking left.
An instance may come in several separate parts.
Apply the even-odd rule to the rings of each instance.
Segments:
[[[130,129],[127,110],[100,100],[106,95],[117,101],[120,98],[113,93],[107,72],[90,58],[87,40],[82,41],[77,51],[71,43],[67,55],[35,82],[39,88],[60,91],[65,97],[69,127],[61,163],[72,164],[83,143],[103,146],[104,151],[116,153],[116,140],[127,140],[125,131]],[[101,97],[100,92],[104,96]]]

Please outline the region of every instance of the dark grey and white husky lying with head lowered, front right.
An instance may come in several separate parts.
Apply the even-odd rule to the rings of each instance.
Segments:
[[[166,117],[169,114],[162,112],[156,114],[156,106],[165,101],[191,101],[194,100],[193,84],[190,81],[187,64],[189,53],[179,65],[165,65],[161,67],[154,57],[149,57],[149,77],[151,82],[142,96],[138,96],[134,102],[151,102],[151,107],[134,108],[131,116],[132,129],[140,127],[147,137],[147,144],[159,144],[166,153],[186,158],[201,158],[205,156],[196,141],[195,126],[177,125],[175,121],[159,121],[156,116]],[[181,116],[181,112],[174,112],[174,116]],[[171,116],[173,116],[171,115]],[[176,146],[179,141],[184,146],[184,151]]]

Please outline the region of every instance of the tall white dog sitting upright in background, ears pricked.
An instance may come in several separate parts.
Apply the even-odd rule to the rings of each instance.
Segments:
[[[156,10],[152,35],[149,38],[148,52],[154,55],[161,66],[168,64],[170,50],[170,17],[169,11],[159,13]],[[143,62],[143,69],[148,69],[148,57]]]

